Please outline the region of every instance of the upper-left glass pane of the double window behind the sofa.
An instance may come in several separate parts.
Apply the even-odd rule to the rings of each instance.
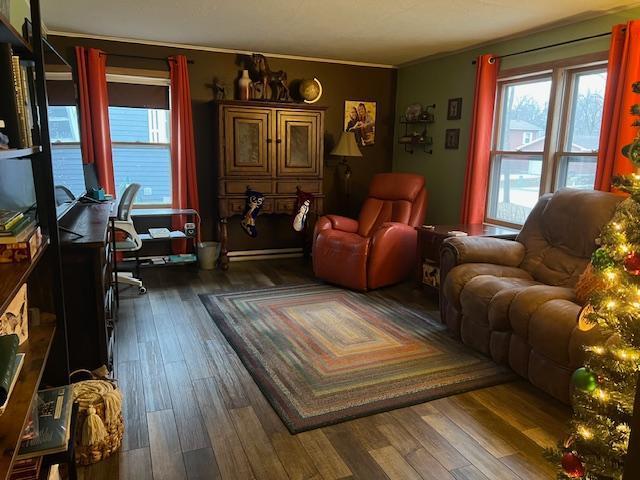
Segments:
[[[499,150],[542,152],[551,78],[507,84],[502,90]]]

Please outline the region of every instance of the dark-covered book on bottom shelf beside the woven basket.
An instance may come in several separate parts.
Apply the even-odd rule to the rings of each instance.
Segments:
[[[18,460],[65,452],[69,446],[73,407],[71,385],[40,390],[34,401],[38,402],[38,434],[20,443]]]

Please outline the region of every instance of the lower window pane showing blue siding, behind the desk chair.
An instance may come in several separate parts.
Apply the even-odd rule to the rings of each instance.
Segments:
[[[114,145],[116,192],[131,183],[141,188],[136,204],[171,204],[171,154],[168,145]]]

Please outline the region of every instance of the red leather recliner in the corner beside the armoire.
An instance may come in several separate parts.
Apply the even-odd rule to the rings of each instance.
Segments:
[[[356,221],[326,215],[313,234],[318,278],[354,290],[397,283],[415,268],[417,232],[427,209],[424,177],[380,173]]]

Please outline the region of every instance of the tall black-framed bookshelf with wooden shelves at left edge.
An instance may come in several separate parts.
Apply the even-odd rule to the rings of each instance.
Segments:
[[[29,307],[40,310],[42,322],[41,326],[30,328],[29,340],[21,346],[26,353],[25,367],[28,367],[23,367],[17,383],[19,388],[14,389],[7,411],[0,416],[0,479],[6,479],[9,478],[34,396],[41,387],[67,384],[69,366],[40,0],[31,0],[31,38],[23,38],[6,18],[0,16],[0,43],[10,44],[14,55],[34,62],[34,91],[39,117],[39,124],[34,125],[34,129],[35,136],[40,139],[39,145],[0,150],[0,175],[15,164],[6,160],[22,159],[31,162],[36,212],[44,239],[31,263],[0,266],[0,314],[15,292],[26,282]]]

